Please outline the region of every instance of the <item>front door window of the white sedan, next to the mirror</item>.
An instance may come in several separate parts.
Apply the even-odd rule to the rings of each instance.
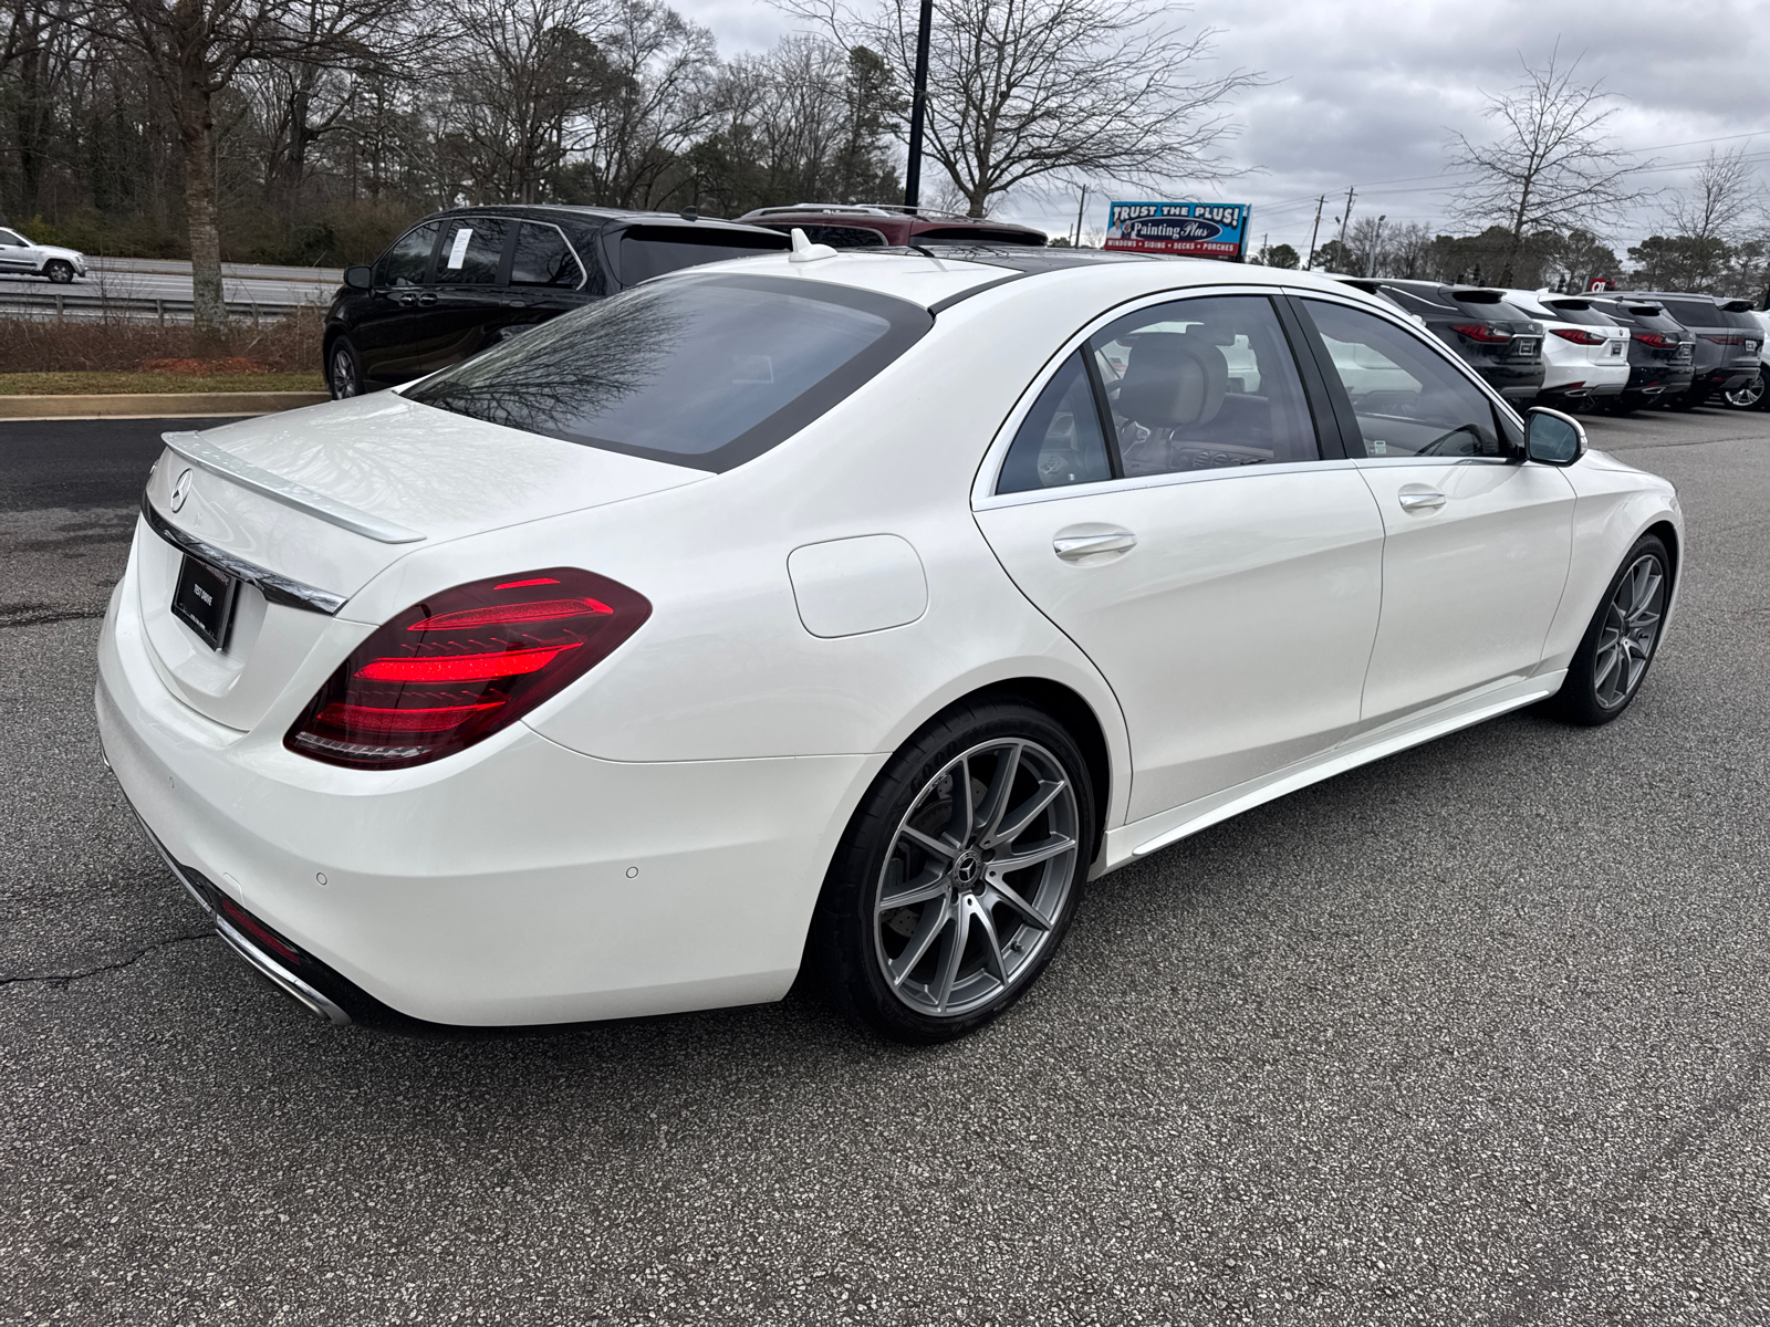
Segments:
[[[1492,403],[1430,345],[1343,304],[1303,301],[1352,402],[1366,456],[1504,456]]]

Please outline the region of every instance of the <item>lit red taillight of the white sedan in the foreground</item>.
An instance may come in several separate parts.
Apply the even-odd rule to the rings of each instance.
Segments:
[[[358,646],[283,745],[358,770],[450,756],[558,695],[650,616],[644,594],[570,566],[457,586]]]

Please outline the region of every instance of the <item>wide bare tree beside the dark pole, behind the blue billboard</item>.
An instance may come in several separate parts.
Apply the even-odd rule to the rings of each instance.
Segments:
[[[912,85],[919,0],[777,0],[843,46],[880,51]],[[1232,173],[1220,106],[1246,71],[1205,74],[1211,28],[1186,34],[1110,0],[935,0],[926,152],[972,216],[1018,184],[1159,184]]]

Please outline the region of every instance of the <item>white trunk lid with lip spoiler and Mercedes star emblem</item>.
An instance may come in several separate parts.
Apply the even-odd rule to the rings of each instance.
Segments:
[[[143,497],[150,511],[136,538],[136,609],[163,681],[198,713],[241,731],[264,717],[329,635],[356,632],[347,626],[350,596],[405,554],[710,478],[395,393],[175,442],[182,455],[172,446],[161,453]],[[258,568],[276,579],[267,587],[237,586],[221,649],[173,614],[193,547],[223,570],[237,559],[248,573]],[[283,593],[281,582],[294,582],[297,593]],[[336,617],[299,607],[306,589],[319,591],[322,603],[342,602]]]

